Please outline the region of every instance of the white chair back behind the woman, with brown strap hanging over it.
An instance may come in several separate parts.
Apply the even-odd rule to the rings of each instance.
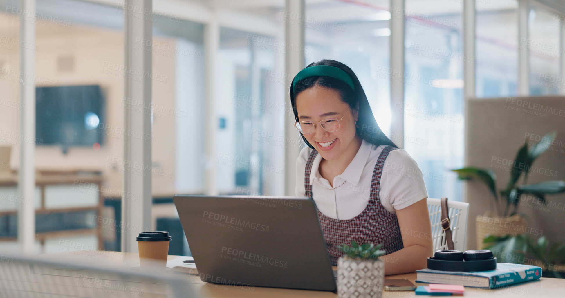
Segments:
[[[467,215],[469,203],[447,200],[449,208],[449,223],[453,246],[457,251],[465,251],[465,236],[467,234]],[[429,221],[432,223],[433,252],[447,249],[445,231],[441,227],[441,201],[439,198],[428,198]]]

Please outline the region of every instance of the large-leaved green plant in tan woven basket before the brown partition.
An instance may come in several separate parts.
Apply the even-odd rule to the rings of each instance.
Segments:
[[[496,175],[490,169],[480,169],[477,167],[464,167],[463,169],[452,170],[458,174],[462,180],[476,180],[482,182],[489,189],[493,200],[490,201],[491,209],[485,215],[477,216],[477,247],[483,248],[483,240],[486,234],[493,236],[518,235],[523,234],[527,222],[523,215],[519,214],[518,205],[522,195],[532,195],[537,197],[546,205],[546,195],[565,192],[565,182],[547,181],[537,184],[526,184],[532,163],[538,156],[551,146],[557,136],[557,132],[550,132],[545,135],[540,142],[528,148],[528,143],[520,147],[513,164],[509,167],[510,180],[506,187],[497,192]],[[520,176],[524,175],[522,184],[518,185]],[[500,196],[499,196],[500,195]]]

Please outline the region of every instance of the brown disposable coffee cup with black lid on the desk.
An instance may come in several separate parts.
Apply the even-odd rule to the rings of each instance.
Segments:
[[[141,269],[165,270],[169,253],[169,232],[141,232],[137,237]]]

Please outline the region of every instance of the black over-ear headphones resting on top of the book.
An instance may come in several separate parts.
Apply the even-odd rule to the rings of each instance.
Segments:
[[[455,251],[441,249],[428,258],[428,269],[440,271],[488,271],[496,269],[496,258],[488,249]]]

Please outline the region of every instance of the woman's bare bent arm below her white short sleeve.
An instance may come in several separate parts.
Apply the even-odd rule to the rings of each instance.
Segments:
[[[404,248],[380,257],[385,262],[385,275],[414,272],[427,267],[432,252],[432,227],[427,200],[420,200],[396,210]]]

